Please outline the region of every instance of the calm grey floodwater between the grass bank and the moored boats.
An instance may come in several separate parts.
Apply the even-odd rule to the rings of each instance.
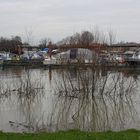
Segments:
[[[140,70],[0,70],[0,130],[140,129]]]

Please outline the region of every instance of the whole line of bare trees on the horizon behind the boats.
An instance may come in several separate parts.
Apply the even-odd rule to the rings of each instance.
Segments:
[[[30,36],[28,37],[29,40]],[[38,47],[43,50],[43,48],[48,47],[50,38],[43,38],[40,40]],[[101,32],[98,28],[95,28],[94,31],[82,31],[81,33],[75,33],[72,36],[68,36],[61,41],[53,44],[54,48],[64,44],[77,45],[79,47],[89,47],[91,44],[108,44],[111,45],[115,42],[115,34],[113,31],[108,31],[107,33]],[[6,52],[15,52],[19,46],[30,45],[23,43],[20,36],[12,36],[11,38],[0,37],[0,51]]]

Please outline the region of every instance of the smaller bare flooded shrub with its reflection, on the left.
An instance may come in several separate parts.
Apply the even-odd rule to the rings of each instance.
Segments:
[[[11,87],[7,88],[6,83],[5,87],[0,86],[3,91],[0,92],[0,97],[3,95],[5,100],[12,101],[19,107],[18,111],[20,111],[22,120],[20,122],[9,120],[11,127],[16,131],[38,131],[44,127],[43,113],[41,115],[44,84],[41,77],[37,79],[35,75],[33,76],[30,71],[26,71],[24,76],[13,81]]]

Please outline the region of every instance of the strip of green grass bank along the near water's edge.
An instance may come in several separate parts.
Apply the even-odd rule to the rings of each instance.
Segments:
[[[140,140],[139,130],[121,132],[81,132],[78,130],[55,133],[19,134],[0,132],[0,140]]]

